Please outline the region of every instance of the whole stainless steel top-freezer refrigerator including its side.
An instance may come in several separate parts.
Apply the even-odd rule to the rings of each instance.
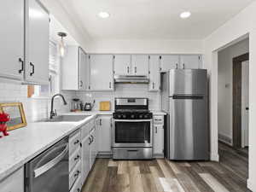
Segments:
[[[166,119],[166,155],[170,160],[208,160],[207,70],[173,69],[161,73]]]

